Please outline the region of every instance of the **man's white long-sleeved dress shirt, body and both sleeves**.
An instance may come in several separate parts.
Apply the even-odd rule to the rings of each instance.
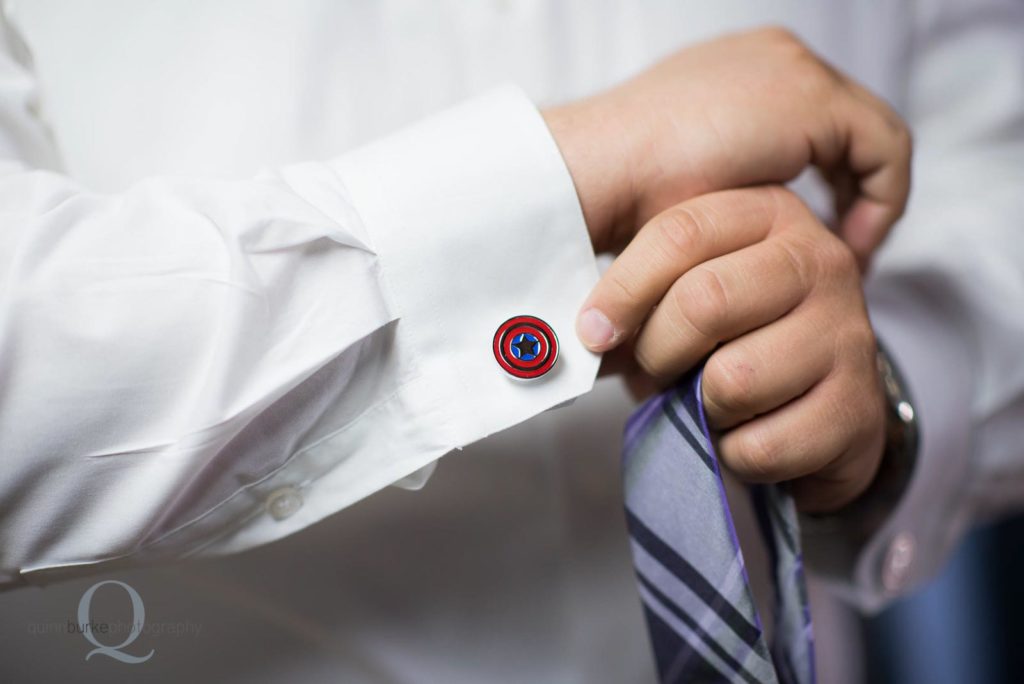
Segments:
[[[597,269],[535,103],[766,23],[916,140],[869,294],[922,453],[843,590],[879,605],[1024,501],[1018,3],[5,10],[0,584],[85,579],[0,597],[0,675],[131,667],[27,627],[119,578],[154,624],[202,625],[144,635],[133,676],[651,677],[618,499],[631,403],[588,393],[572,323]],[[492,356],[518,313],[559,334],[543,381]]]

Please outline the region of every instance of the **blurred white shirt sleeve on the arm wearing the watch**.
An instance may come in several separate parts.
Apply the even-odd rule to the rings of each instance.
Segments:
[[[867,284],[916,404],[901,500],[837,578],[876,609],[934,575],[973,523],[1024,504],[1024,6],[919,3],[914,184]],[[812,538],[808,556],[839,557]]]

